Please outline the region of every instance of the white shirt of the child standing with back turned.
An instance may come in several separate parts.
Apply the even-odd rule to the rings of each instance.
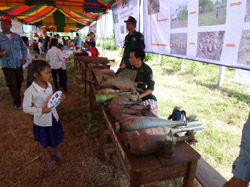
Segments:
[[[46,55],[46,60],[50,62],[51,69],[60,69],[63,64],[63,53],[53,46]]]

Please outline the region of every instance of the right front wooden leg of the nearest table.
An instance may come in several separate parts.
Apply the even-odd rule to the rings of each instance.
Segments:
[[[183,187],[193,187],[197,162],[197,160],[189,162],[188,173],[183,180]]]

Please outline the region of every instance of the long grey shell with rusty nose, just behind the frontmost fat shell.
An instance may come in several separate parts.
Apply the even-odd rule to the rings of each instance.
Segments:
[[[139,129],[146,129],[152,127],[172,127],[178,126],[197,127],[201,126],[199,121],[170,121],[158,117],[145,117],[145,116],[126,116],[121,118],[119,123],[115,124],[117,131],[133,131]]]

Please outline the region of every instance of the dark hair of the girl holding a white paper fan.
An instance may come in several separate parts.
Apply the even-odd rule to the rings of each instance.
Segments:
[[[45,68],[50,68],[50,65],[45,60],[33,60],[28,66],[28,74],[31,80],[34,80],[34,73],[38,73],[40,75],[41,71]]]

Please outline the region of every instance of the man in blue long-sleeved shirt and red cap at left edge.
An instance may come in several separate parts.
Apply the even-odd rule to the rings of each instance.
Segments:
[[[8,15],[0,17],[0,61],[7,86],[14,101],[14,108],[21,106],[23,67],[27,61],[27,48],[20,35],[12,33],[11,19]]]

